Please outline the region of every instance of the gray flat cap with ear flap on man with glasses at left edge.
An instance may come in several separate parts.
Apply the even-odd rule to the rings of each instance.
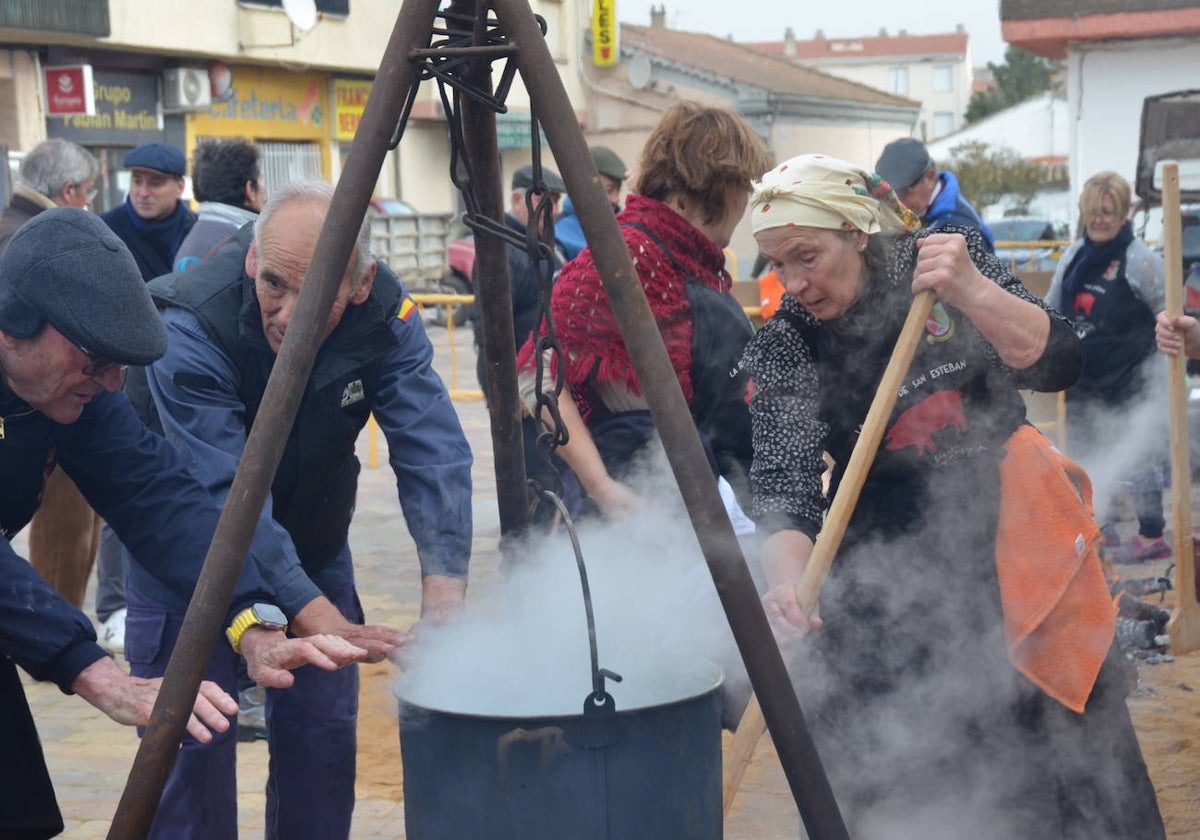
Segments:
[[[121,365],[149,365],[167,350],[167,329],[133,256],[86,210],[38,214],[0,257],[0,330],[31,338],[47,322]]]

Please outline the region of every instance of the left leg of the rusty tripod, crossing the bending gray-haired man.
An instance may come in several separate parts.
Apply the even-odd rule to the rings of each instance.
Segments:
[[[199,689],[212,648],[221,638],[224,614],[312,371],[325,319],[413,84],[415,71],[408,60],[409,52],[428,43],[437,10],[438,0],[406,0],[396,19],[362,122],[318,238],[295,314],[266,384],[264,410],[246,440],[229,502],[221,514],[179,643],[167,665],[150,726],[116,806],[108,832],[109,840],[139,840],[150,830],[187,725],[192,698]]]

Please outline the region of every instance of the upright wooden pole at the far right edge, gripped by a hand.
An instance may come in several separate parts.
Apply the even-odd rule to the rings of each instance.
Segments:
[[[1163,166],[1163,263],[1166,314],[1183,314],[1183,248],[1180,218],[1180,167]],[[1171,527],[1175,530],[1175,611],[1166,624],[1171,653],[1200,648],[1200,604],[1195,588],[1195,541],[1192,538],[1192,464],[1188,450],[1187,359],[1168,359],[1171,419]]]

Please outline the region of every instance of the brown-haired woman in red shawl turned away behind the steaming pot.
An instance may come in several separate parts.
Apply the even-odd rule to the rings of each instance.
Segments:
[[[683,102],[647,140],[617,217],[714,469],[739,494],[751,457],[748,380],[730,371],[752,328],[730,295],[724,248],[745,214],[751,182],[769,166],[762,140],[739,116]],[[602,463],[596,450],[581,458],[571,444],[559,455],[612,514],[629,496],[608,476],[620,478],[631,466],[653,439],[654,424],[590,248],[563,269],[552,310],[566,384]],[[527,379],[533,353],[527,342],[518,360]]]

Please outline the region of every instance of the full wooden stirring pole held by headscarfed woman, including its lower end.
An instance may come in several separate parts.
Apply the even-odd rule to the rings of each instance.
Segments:
[[[875,454],[883,440],[883,432],[892,418],[892,409],[895,408],[900,385],[908,373],[908,366],[912,365],[912,358],[917,352],[922,329],[934,307],[934,293],[929,290],[922,292],[912,299],[908,317],[905,319],[904,326],[900,329],[900,337],[896,338],[896,346],[892,350],[892,359],[888,360],[883,378],[880,379],[880,385],[875,390],[875,398],[871,400],[871,407],[866,412],[866,420],[863,422],[858,443],[854,444],[854,450],[850,455],[846,472],[838,485],[838,492],[834,494],[829,514],[817,535],[816,545],[812,546],[809,563],[804,568],[800,582],[796,586],[796,599],[806,616],[811,614],[817,606],[821,587],[824,584],[829,568],[833,565],[833,558],[841,546],[841,538],[846,535],[846,527],[854,512],[854,505],[858,504],[858,497],[863,492],[866,474],[871,469],[871,463],[875,462]],[[762,708],[758,706],[758,698],[750,695],[750,702],[742,714],[738,728],[733,733],[733,743],[725,757],[722,784],[726,814],[733,805],[738,787],[742,785],[742,776],[745,775],[746,767],[750,764],[750,758],[754,756],[764,728],[766,721],[762,716]]]

